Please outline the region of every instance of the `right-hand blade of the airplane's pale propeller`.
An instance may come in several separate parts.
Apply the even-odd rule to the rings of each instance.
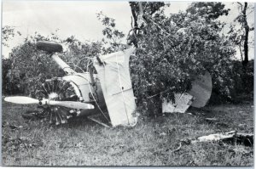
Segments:
[[[81,103],[81,102],[72,102],[72,101],[49,100],[49,102],[47,104],[49,104],[49,105],[59,105],[59,106],[72,108],[72,109],[78,109],[78,110],[94,109],[94,105],[92,105],[92,104],[85,104],[85,103]]]

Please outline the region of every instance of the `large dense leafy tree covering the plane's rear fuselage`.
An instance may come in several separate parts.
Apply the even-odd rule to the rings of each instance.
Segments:
[[[224,23],[216,20],[229,9],[222,3],[192,3],[185,13],[169,17],[164,8],[153,11],[143,13],[146,25],[141,28],[136,57],[131,58],[137,99],[161,93],[159,99],[173,100],[174,93],[188,91],[206,70],[218,92],[230,96],[231,80],[226,77],[235,50],[220,33]]]

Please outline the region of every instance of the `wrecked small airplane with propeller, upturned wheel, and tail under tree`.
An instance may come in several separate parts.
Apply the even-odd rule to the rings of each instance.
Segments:
[[[88,67],[88,72],[78,73],[59,56],[61,44],[37,42],[37,48],[47,52],[51,59],[67,74],[48,79],[37,93],[37,99],[24,96],[6,97],[15,104],[38,104],[35,113],[50,124],[64,124],[67,120],[86,115],[105,127],[134,127],[137,124],[136,102],[131,85],[129,59],[135,48],[102,55],[93,59],[97,74]],[[193,83],[189,93],[176,94],[175,104],[164,102],[164,112],[185,112],[190,105],[202,107],[212,93],[209,73]],[[23,114],[26,116],[26,114]],[[97,119],[100,115],[104,121]]]

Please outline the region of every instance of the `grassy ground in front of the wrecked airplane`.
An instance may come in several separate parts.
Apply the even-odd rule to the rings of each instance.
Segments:
[[[132,128],[106,128],[86,117],[54,127],[21,117],[32,109],[3,101],[3,166],[253,166],[253,147],[239,144],[196,143],[173,151],[185,138],[252,133],[253,102],[188,110],[193,115],[141,115]]]

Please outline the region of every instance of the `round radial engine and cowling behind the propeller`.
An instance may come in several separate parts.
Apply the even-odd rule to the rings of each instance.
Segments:
[[[63,124],[67,120],[78,115],[92,115],[99,112],[99,107],[104,109],[105,100],[102,96],[102,88],[95,77],[95,83],[90,82],[89,73],[77,73],[74,75],[54,77],[46,80],[41,89],[36,93],[37,98],[55,101],[77,101],[95,105],[94,110],[77,110],[62,106],[42,105],[42,110],[37,116],[50,124]],[[23,116],[27,116],[24,114]]]

